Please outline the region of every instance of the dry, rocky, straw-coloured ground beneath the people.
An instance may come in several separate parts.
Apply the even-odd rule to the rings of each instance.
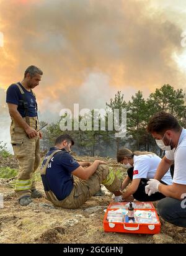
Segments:
[[[93,162],[97,157],[75,157],[79,161]],[[114,170],[121,169],[115,160],[100,158]],[[0,159],[0,167],[17,167],[12,159]],[[125,170],[123,170],[125,176]],[[45,198],[33,199],[29,206],[20,206],[11,187],[11,179],[0,179],[0,193],[4,196],[4,208],[0,209],[0,243],[78,243],[78,244],[149,244],[185,243],[186,230],[162,221],[161,233],[124,234],[104,232],[104,209],[112,201],[112,194],[93,196],[79,209],[54,207]],[[40,180],[37,188],[43,191]],[[104,188],[104,187],[103,187]],[[105,189],[105,188],[104,188]],[[155,203],[156,206],[156,203]]]

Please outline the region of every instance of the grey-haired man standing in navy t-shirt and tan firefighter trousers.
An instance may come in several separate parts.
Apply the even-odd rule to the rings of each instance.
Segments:
[[[11,116],[11,144],[19,161],[19,175],[15,183],[15,193],[23,206],[32,198],[42,197],[35,188],[33,173],[40,163],[40,139],[38,130],[37,102],[32,89],[41,80],[43,72],[36,66],[29,66],[24,80],[12,84],[7,89],[6,103]]]

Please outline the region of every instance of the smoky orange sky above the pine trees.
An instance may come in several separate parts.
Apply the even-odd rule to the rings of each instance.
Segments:
[[[183,9],[170,2],[161,9],[155,0],[0,0],[0,88],[37,65],[40,111],[54,112],[73,103],[103,107],[117,89],[128,100],[138,89],[148,96],[166,83],[184,88],[172,58],[185,50],[175,19]]]

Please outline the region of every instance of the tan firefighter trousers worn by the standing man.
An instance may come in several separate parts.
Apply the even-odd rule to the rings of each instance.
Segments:
[[[30,127],[38,129],[37,117],[29,117]],[[39,136],[29,139],[24,129],[14,120],[11,122],[11,144],[15,158],[19,162],[19,174],[15,181],[15,193],[19,198],[30,195],[35,188],[33,173],[40,164],[40,139]]]

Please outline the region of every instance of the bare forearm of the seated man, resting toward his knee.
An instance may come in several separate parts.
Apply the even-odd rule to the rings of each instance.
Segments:
[[[77,176],[78,178],[81,178],[82,180],[88,180],[89,177],[95,173],[95,171],[97,170],[97,167],[100,164],[106,164],[106,163],[104,161],[95,160],[91,166],[87,167],[86,169],[80,166],[76,170],[72,171],[72,174]]]

